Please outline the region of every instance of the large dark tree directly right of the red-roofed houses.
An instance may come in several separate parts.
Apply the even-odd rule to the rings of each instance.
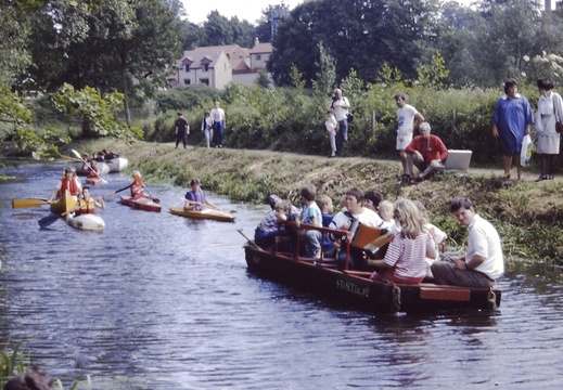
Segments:
[[[336,61],[338,80],[354,68],[360,78],[374,81],[384,62],[415,77],[422,48],[435,44],[437,38],[437,0],[304,3],[281,23],[272,41],[269,69],[279,84],[289,82],[293,63],[307,80],[314,79],[318,69],[311,60],[318,57],[316,46],[322,41]]]

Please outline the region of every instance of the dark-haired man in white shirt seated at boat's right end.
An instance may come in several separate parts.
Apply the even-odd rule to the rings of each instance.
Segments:
[[[464,257],[453,258],[453,262],[433,262],[431,270],[435,283],[492,287],[504,273],[504,258],[497,230],[475,212],[473,203],[465,197],[453,200],[449,210],[459,223],[468,226],[468,252]]]

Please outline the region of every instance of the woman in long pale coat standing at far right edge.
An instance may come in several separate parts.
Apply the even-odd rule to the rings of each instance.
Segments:
[[[539,154],[541,164],[541,174],[536,180],[538,182],[553,180],[561,141],[561,135],[555,130],[555,121],[563,120],[563,104],[561,95],[551,91],[553,82],[540,79],[537,84],[540,96],[536,112],[536,138],[538,140],[536,152]]]

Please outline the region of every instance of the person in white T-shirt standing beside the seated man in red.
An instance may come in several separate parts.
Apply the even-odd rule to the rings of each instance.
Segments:
[[[402,184],[408,184],[410,178],[407,176],[407,152],[405,150],[412,141],[414,129],[424,121],[424,117],[417,108],[407,104],[407,98],[402,93],[395,95],[395,103],[399,107],[397,109],[397,144],[396,148],[399,151],[400,164],[402,165]],[[414,120],[417,120],[414,122]]]

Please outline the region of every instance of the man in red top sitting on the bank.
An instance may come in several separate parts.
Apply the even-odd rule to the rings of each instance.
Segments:
[[[417,184],[444,169],[443,162],[448,157],[448,150],[437,135],[430,133],[430,123],[422,122],[419,127],[420,135],[414,136],[405,150],[407,153],[405,171],[409,177],[409,184]],[[418,179],[412,176],[412,166],[422,172]]]

